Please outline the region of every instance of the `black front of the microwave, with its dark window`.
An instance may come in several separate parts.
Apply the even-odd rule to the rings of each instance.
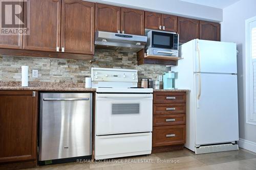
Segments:
[[[178,50],[178,35],[165,32],[152,31],[151,46]]]

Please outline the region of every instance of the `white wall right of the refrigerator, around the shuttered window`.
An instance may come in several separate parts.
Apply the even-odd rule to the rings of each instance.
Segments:
[[[245,113],[245,19],[256,16],[255,0],[240,0],[223,9],[221,41],[237,42],[239,135],[240,138],[256,142],[256,126],[246,124]],[[253,143],[255,144],[255,143]]]

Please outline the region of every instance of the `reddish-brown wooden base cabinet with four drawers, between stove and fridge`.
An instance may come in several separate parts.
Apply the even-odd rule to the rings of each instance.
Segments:
[[[186,92],[153,93],[153,153],[179,150],[186,142]]]

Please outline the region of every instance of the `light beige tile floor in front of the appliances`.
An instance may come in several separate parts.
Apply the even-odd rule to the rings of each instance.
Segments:
[[[39,166],[28,170],[66,170],[66,169],[187,169],[187,170],[243,170],[256,169],[256,153],[240,149],[239,151],[195,155],[182,151],[151,154],[108,160],[109,162],[65,163]],[[111,162],[112,161],[112,162]],[[116,162],[114,162],[116,161]],[[160,162],[160,163],[159,163]]]

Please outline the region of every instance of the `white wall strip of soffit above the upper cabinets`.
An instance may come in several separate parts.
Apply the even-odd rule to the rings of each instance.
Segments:
[[[185,16],[208,21],[222,21],[222,9],[207,7],[178,0],[89,0],[102,4],[130,7],[145,11],[154,11]]]

